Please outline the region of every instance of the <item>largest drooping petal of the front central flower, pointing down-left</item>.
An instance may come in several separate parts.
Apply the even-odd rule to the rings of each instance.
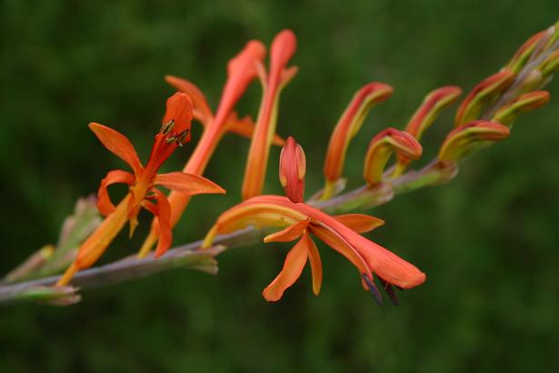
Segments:
[[[287,257],[285,257],[282,271],[262,292],[262,295],[267,301],[275,302],[279,300],[284,295],[285,289],[291,287],[297,278],[301,276],[306,258],[308,257],[309,245],[309,238],[307,235],[304,235],[304,237],[289,250]]]

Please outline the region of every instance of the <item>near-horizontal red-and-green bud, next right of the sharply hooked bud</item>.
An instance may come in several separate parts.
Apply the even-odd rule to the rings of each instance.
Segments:
[[[456,163],[474,152],[480,144],[503,140],[509,134],[508,127],[484,120],[458,126],[444,139],[438,159],[442,162]]]

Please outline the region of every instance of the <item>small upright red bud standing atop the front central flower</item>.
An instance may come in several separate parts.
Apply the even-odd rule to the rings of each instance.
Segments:
[[[295,203],[303,202],[305,165],[303,148],[288,137],[280,154],[279,177],[285,195]]]

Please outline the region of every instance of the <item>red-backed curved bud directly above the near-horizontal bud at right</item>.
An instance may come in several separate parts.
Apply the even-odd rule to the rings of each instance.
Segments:
[[[458,108],[454,123],[456,126],[475,120],[486,104],[493,101],[496,96],[504,91],[514,81],[514,72],[504,70],[484,79],[474,86]]]

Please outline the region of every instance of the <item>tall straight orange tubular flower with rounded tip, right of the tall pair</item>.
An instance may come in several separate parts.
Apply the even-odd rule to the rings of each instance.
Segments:
[[[255,135],[246,160],[243,199],[262,193],[270,145],[275,134],[280,94],[296,73],[296,68],[286,67],[294,55],[296,45],[297,41],[293,31],[280,32],[272,42],[268,75],[261,66],[260,74],[264,86],[264,96],[256,120]]]

